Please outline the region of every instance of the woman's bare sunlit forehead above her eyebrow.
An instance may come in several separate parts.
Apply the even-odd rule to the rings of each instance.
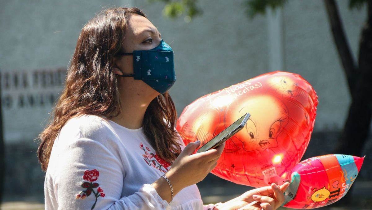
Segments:
[[[144,32],[153,34],[159,33],[157,28],[150,22],[150,20],[138,14],[132,14],[129,17],[127,30],[128,32],[131,31],[134,36],[140,35]]]

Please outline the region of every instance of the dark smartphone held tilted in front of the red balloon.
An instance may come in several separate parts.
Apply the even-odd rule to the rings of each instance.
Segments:
[[[243,117],[240,117],[240,119],[232,123],[229,127],[221,131],[221,133],[219,133],[213,139],[204,144],[196,153],[201,153],[203,151],[214,149],[221,145],[222,143],[224,143],[226,140],[230,139],[231,136],[233,136],[235,133],[238,133],[238,131],[243,129],[244,125],[247,123],[250,116],[251,115],[249,113],[244,114]]]

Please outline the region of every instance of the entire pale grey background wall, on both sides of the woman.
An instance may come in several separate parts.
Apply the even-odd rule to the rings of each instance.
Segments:
[[[291,0],[283,9],[253,20],[244,14],[243,2],[200,0],[202,16],[187,23],[183,18],[165,18],[164,4],[147,0],[0,0],[1,94],[7,152],[12,153],[7,165],[36,160],[37,145],[30,142],[45,126],[62,89],[80,30],[95,13],[111,6],[143,9],[173,48],[177,82],[170,93],[179,114],[200,96],[284,70],[301,74],[318,93],[314,131],[340,130],[350,96],[323,1]],[[348,0],[337,3],[357,57],[366,10],[350,11]],[[29,143],[22,150],[19,145],[24,141]],[[23,165],[12,168],[7,177],[22,174],[23,169]],[[14,193],[15,185],[26,186],[29,181],[20,179],[7,182]],[[33,178],[38,183],[43,179],[41,172]],[[42,191],[40,185],[36,187]]]

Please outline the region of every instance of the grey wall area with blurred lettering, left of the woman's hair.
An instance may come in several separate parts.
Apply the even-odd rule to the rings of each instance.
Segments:
[[[6,141],[32,140],[47,123],[84,24],[128,1],[0,3],[0,71]]]

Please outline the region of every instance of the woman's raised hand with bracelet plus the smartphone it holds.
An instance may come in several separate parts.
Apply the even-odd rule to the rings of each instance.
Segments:
[[[202,181],[217,165],[225,148],[225,141],[240,131],[247,123],[250,114],[246,113],[229,127],[217,134],[213,139],[203,145],[196,154],[193,154],[200,146],[200,141],[187,144],[185,149],[173,162],[170,170],[165,174],[173,187],[173,194],[192,184]],[[214,149],[211,149],[214,148]],[[171,200],[169,183],[162,177],[152,184],[161,198]]]

